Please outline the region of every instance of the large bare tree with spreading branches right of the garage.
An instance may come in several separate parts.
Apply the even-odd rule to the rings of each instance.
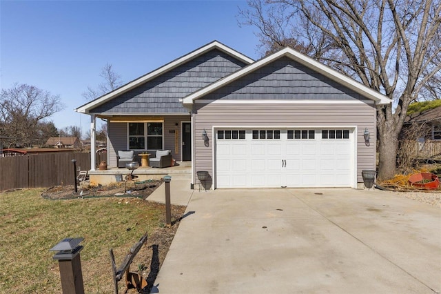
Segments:
[[[258,28],[267,50],[280,39],[296,39],[313,48],[303,51],[309,56],[395,100],[395,108],[377,107],[378,178],[393,177],[407,107],[440,75],[440,0],[248,3],[249,9],[239,12],[242,23]]]

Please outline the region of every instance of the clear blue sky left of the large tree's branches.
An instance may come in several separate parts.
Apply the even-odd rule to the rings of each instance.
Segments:
[[[238,26],[246,1],[4,1],[0,0],[1,88],[30,84],[60,95],[57,128],[90,128],[88,86],[111,63],[132,81],[187,52],[218,40],[258,59],[255,28]]]

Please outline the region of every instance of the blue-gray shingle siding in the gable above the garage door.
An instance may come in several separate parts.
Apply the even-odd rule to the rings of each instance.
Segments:
[[[267,66],[255,70],[223,86],[203,99],[216,100],[349,100],[360,95],[300,63],[281,57]]]

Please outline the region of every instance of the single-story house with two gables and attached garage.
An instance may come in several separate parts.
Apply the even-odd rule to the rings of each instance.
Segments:
[[[213,41],[76,111],[92,140],[107,120],[107,166],[117,150],[169,149],[191,161],[191,186],[203,170],[212,188],[356,188],[376,168],[376,106],[389,103],[291,48],[254,61]]]

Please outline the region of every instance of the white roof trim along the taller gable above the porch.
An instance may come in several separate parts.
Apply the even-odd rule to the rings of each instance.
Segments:
[[[136,86],[139,86],[140,84],[145,83],[146,81],[149,81],[150,79],[154,79],[155,77],[158,77],[162,75],[163,73],[172,70],[173,68],[176,68],[177,66],[181,66],[181,64],[194,59],[195,57],[198,57],[199,55],[203,55],[205,52],[212,50],[214,48],[217,48],[220,51],[223,51],[227,53],[228,55],[232,55],[233,57],[236,57],[240,61],[243,61],[244,63],[250,64],[253,63],[254,60],[243,55],[242,53],[229,48],[228,46],[225,46],[223,43],[220,43],[218,41],[212,41],[211,43],[208,43],[207,45],[196,49],[192,52],[189,52],[187,55],[184,55],[183,57],[180,57],[178,59],[175,59],[174,61],[167,63],[165,66],[161,66],[161,68],[157,68],[156,70],[148,73],[147,75],[143,75],[142,77],[139,77],[138,79],[134,79],[133,81],[130,81],[129,83],[125,84],[124,86],[121,86],[120,88],[117,88],[116,90],[109,92],[97,99],[94,99],[94,101],[90,101],[87,104],[84,104],[83,106],[80,106],[79,108],[76,108],[76,112],[80,113],[89,113],[89,110],[92,108],[95,108],[96,106],[100,106],[101,104],[104,104],[105,102],[111,100],[112,98],[123,94],[124,92],[127,92],[128,90],[132,90],[133,88],[136,88]]]

